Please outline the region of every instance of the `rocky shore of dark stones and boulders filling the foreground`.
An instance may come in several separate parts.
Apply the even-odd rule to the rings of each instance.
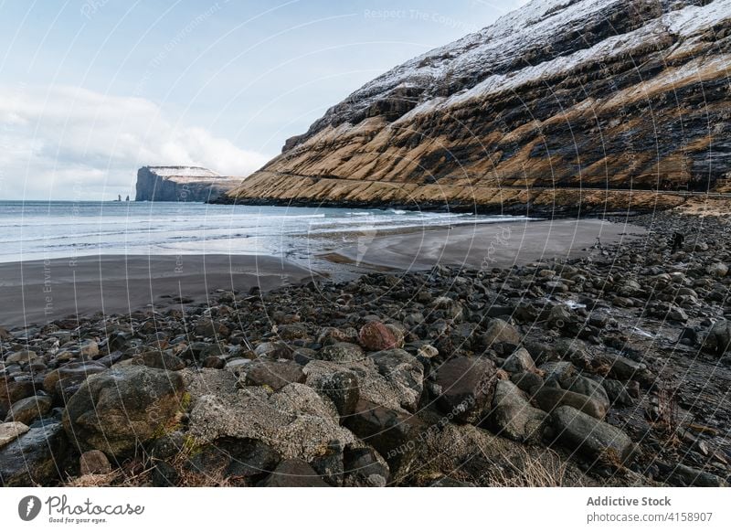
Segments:
[[[726,485],[731,220],[632,223],[566,261],[0,329],[0,484]]]

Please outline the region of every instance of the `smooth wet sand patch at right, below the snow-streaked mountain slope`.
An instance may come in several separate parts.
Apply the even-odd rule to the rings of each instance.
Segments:
[[[336,250],[331,259],[397,270],[424,270],[438,263],[473,269],[509,268],[541,259],[587,255],[597,237],[605,245],[645,232],[639,226],[599,219],[456,226],[362,239],[358,245]]]

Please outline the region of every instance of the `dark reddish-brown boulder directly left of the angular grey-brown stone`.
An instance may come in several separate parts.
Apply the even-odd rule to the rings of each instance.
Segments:
[[[440,409],[464,423],[482,420],[482,410],[493,402],[496,373],[487,358],[459,356],[445,362],[436,379],[441,388]]]

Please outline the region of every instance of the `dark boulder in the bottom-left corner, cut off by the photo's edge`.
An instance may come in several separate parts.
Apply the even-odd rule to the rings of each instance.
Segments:
[[[53,485],[64,471],[68,442],[59,421],[49,421],[0,448],[0,486]]]

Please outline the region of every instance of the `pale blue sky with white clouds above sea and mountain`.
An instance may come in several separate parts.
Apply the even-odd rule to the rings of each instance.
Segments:
[[[0,199],[247,176],[327,108],[526,0],[0,0]]]

